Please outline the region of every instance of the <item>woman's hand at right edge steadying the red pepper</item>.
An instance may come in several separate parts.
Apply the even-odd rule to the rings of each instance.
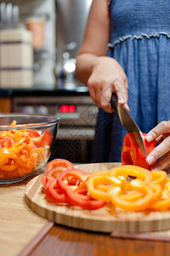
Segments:
[[[156,127],[147,134],[146,139],[149,142],[156,139],[156,142],[160,143],[146,158],[146,162],[149,164],[161,158],[161,160],[151,168],[151,171],[167,169],[170,166],[170,120],[163,121],[156,125]]]

